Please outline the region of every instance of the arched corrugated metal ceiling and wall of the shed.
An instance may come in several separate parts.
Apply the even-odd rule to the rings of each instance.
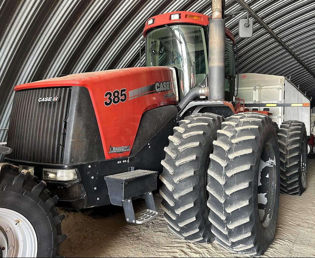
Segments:
[[[245,2],[315,72],[315,1]],[[14,85],[65,73],[138,66],[146,20],[176,10],[211,15],[210,0],[1,1],[0,128],[9,124]],[[226,13],[238,10],[238,3],[226,0]],[[291,77],[314,99],[315,78],[261,25],[254,21],[254,36],[238,38],[238,20],[245,16],[226,19],[239,46],[240,72]],[[0,131],[0,142],[4,138]]]

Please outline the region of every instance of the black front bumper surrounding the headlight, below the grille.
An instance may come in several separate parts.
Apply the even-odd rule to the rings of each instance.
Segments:
[[[38,182],[43,180],[43,168],[54,169],[75,168],[78,176],[77,180],[72,181],[43,180],[47,184],[47,189],[51,192],[51,195],[58,196],[57,207],[68,209],[69,208],[83,209],[94,207],[96,205],[86,164],[60,165],[40,162],[27,162],[11,158],[5,158],[5,161],[16,166],[24,165],[34,167],[34,175],[37,177]]]

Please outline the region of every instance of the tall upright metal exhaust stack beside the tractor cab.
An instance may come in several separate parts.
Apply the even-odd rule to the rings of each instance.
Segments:
[[[223,6],[222,6],[223,5]],[[224,100],[224,42],[225,1],[212,0],[212,19],[209,21],[209,87],[211,100]]]

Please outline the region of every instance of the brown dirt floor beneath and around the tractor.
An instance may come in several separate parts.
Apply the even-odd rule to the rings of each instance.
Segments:
[[[280,195],[276,238],[262,257],[315,256],[315,160],[308,162],[307,189],[302,196]],[[217,243],[187,243],[175,237],[163,220],[161,197],[155,196],[159,216],[140,226],[127,223],[123,210],[93,217],[64,211],[61,246],[65,257],[238,257]],[[135,202],[141,209],[142,202]]]

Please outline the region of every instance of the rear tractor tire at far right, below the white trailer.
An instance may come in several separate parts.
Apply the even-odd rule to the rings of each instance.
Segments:
[[[306,189],[307,136],[305,124],[286,121],[278,133],[280,151],[280,191],[301,195]]]

